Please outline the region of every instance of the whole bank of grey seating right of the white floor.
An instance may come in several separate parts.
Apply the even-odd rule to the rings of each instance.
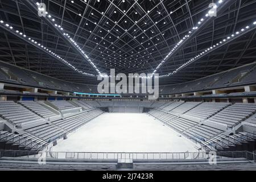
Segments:
[[[217,102],[205,102],[202,104],[197,102],[193,104],[185,102],[171,111],[154,109],[149,111],[148,114],[166,123],[166,125],[186,137],[203,143],[205,146],[217,143],[215,147],[222,150],[224,147],[232,146],[232,144],[230,145],[230,138],[232,138],[230,136],[232,133],[230,127],[245,121],[246,118],[247,123],[256,123],[255,112],[256,104],[237,103],[232,105]],[[224,140],[226,137],[229,138],[228,142]],[[237,138],[240,138],[240,140]],[[233,144],[246,141],[242,134],[234,135],[232,140]],[[219,144],[220,141],[222,142],[221,144]]]

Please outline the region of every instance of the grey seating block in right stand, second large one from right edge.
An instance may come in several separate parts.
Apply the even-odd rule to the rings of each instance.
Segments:
[[[218,111],[224,109],[228,105],[230,104],[221,102],[204,102],[192,110],[189,110],[187,113],[185,113],[185,115],[204,120],[211,117],[213,114],[216,114]]]

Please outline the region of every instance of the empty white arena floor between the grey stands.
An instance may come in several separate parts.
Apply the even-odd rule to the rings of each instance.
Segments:
[[[191,140],[147,114],[104,113],[68,135],[59,152],[196,152]]]

